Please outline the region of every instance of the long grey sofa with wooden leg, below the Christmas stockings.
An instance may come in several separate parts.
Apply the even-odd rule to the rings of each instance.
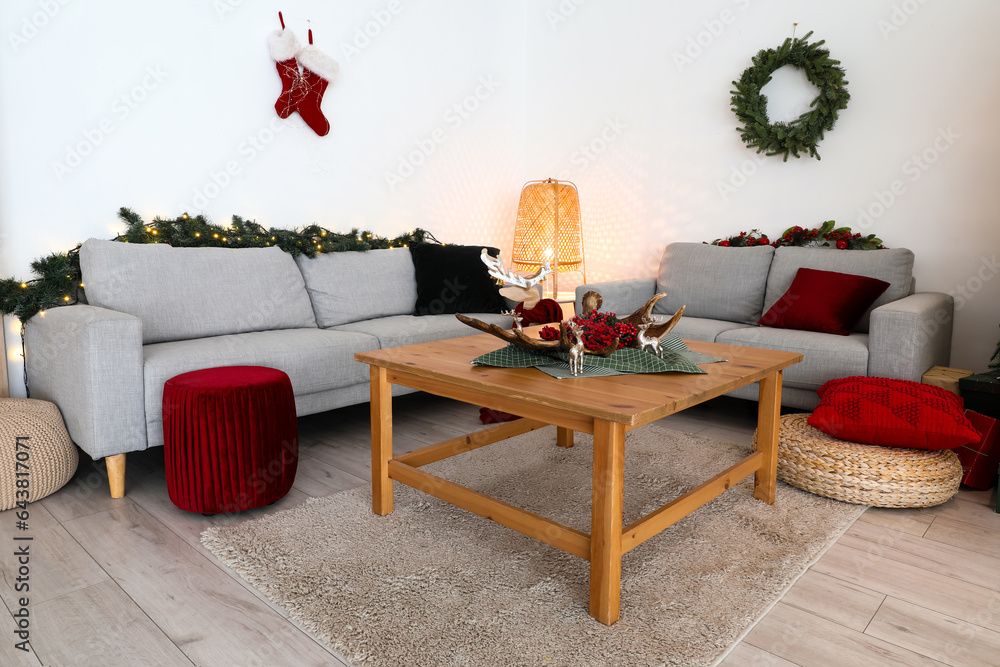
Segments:
[[[125,454],[163,444],[163,383],[174,375],[278,368],[301,416],[369,400],[356,352],[477,333],[454,315],[413,315],[415,270],[402,248],[296,260],[274,247],[91,239],[80,265],[87,304],[51,309],[25,327],[28,385],[33,398],[59,406],[81,449],[107,457],[113,496],[122,493]],[[511,326],[507,316],[475,317]]]

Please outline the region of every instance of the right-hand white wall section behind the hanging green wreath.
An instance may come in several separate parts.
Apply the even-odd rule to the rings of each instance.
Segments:
[[[528,4],[527,171],[579,186],[590,281],[654,275],[671,241],[833,219],[912,249],[918,289],[956,292],[952,363],[985,369],[1000,338],[1000,3]],[[730,110],[731,82],[794,22],[849,81],[821,161],[757,156]],[[767,90],[772,107],[795,92]]]

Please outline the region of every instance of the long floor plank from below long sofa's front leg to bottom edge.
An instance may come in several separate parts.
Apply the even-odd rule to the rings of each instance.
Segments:
[[[334,663],[331,653],[298,628],[276,623],[273,610],[133,502],[64,525],[192,662]]]

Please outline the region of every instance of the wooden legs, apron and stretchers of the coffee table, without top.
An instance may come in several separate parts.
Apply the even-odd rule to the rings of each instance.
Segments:
[[[624,529],[622,504],[625,432],[634,426],[602,418],[587,420],[578,414],[546,409],[546,420],[525,417],[394,458],[393,384],[479,405],[487,404],[494,409],[512,408],[519,414],[538,414],[539,410],[537,406],[530,404],[498,401],[495,395],[487,392],[458,387],[406,371],[390,370],[384,366],[372,364],[370,372],[374,512],[379,515],[392,512],[392,484],[395,480],[583,558],[590,562],[590,615],[606,625],[617,621],[620,612],[622,554],[662,532],[751,474],[754,475],[754,497],[768,504],[774,502],[781,370],[764,375],[759,380],[757,451]],[[419,469],[428,463],[500,442],[550,423],[557,425],[556,444],[562,447],[573,446],[574,430],[592,433],[594,436],[590,535]]]

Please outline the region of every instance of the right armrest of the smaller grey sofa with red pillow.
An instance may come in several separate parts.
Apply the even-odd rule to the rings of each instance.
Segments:
[[[932,366],[951,359],[955,300],[918,292],[872,310],[868,328],[868,375],[920,382]]]

